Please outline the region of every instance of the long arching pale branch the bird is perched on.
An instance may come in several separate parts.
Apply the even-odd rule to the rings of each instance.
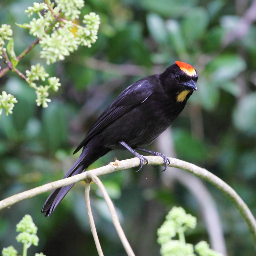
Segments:
[[[163,158],[160,156],[146,156],[146,158],[148,159],[148,164],[163,165]],[[252,212],[250,211],[248,206],[244,203],[243,199],[236,193],[236,191],[233,188],[231,188],[226,182],[224,182],[223,180],[221,180],[220,178],[218,178],[217,176],[215,176],[214,174],[212,174],[211,172],[207,171],[204,168],[198,167],[195,164],[190,164],[188,162],[176,158],[169,158],[169,160],[170,164],[168,166],[176,167],[179,169],[183,169],[187,172],[193,173],[194,175],[203,178],[204,180],[207,180],[216,188],[220,189],[220,191],[223,192],[228,197],[228,199],[235,205],[237,210],[240,212],[241,216],[244,218],[249,228],[249,231],[252,235],[254,245],[256,247],[256,220],[254,219]],[[89,175],[91,173],[96,176],[101,176],[111,172],[137,167],[139,166],[139,164],[140,160],[137,157],[123,161],[111,162],[106,166],[90,170],[81,174],[77,174],[63,180],[57,180],[45,184],[43,186],[33,188],[25,192],[21,192],[17,195],[10,196],[0,201],[0,210],[5,207],[11,206],[12,204],[15,204],[19,201],[22,201],[26,198],[42,194],[55,188],[68,186],[81,180],[86,180],[89,178]]]

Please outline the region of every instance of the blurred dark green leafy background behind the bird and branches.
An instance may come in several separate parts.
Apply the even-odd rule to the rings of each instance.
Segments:
[[[22,10],[32,3],[0,2],[0,24],[12,26],[16,55],[34,40],[14,25],[28,22]],[[239,30],[250,6],[251,1],[243,0],[86,1],[81,17],[93,11],[101,19],[99,39],[92,48],[81,47],[65,61],[46,67],[37,46],[19,63],[23,73],[32,64],[42,63],[50,76],[60,77],[62,86],[50,95],[47,109],[36,106],[35,92],[16,74],[8,72],[0,79],[1,91],[18,100],[13,114],[0,119],[1,199],[61,179],[78,157],[79,153],[72,155],[76,145],[126,86],[181,60],[197,70],[199,79],[198,91],[172,125],[177,157],[226,181],[255,216],[256,24],[248,24],[243,33]],[[101,65],[95,65],[93,58]],[[0,66],[5,66],[3,60]],[[126,151],[110,152],[90,168],[115,157],[132,156]],[[139,173],[124,170],[101,177],[136,255],[159,255],[156,230],[174,205],[195,215],[201,227],[188,234],[188,243],[208,240],[196,201],[179,184],[164,188],[159,170],[146,166]],[[254,255],[244,220],[223,195],[206,186],[217,201],[228,255]],[[47,219],[40,213],[46,198],[46,194],[39,195],[0,212],[0,249],[13,244],[20,250],[14,226],[30,214],[40,237],[37,250],[45,255],[97,255],[86,217],[83,182],[72,188]],[[92,210],[105,255],[125,255],[96,186]]]

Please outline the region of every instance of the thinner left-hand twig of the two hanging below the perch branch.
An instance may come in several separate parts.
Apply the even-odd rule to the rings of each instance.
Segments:
[[[86,204],[86,209],[87,209],[87,216],[90,222],[90,227],[92,230],[92,236],[94,238],[94,242],[97,248],[97,252],[99,254],[99,256],[104,256],[101,246],[100,246],[100,240],[99,237],[97,235],[97,230],[95,227],[95,223],[93,220],[93,216],[92,216],[92,209],[91,209],[91,204],[90,204],[90,182],[86,182],[85,183],[85,192],[84,192],[84,196],[85,196],[85,204]]]

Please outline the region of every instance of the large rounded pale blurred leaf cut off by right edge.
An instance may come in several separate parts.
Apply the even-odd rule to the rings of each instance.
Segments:
[[[256,93],[243,97],[237,104],[233,122],[237,129],[256,134]]]

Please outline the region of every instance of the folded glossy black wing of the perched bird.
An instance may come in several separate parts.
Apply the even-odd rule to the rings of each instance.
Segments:
[[[152,84],[156,82],[157,77],[150,76],[151,81],[149,81],[148,78],[149,77],[140,79],[134,84],[128,86],[123,92],[121,92],[116,100],[114,100],[113,103],[99,116],[95,124],[88,131],[84,137],[84,140],[82,140],[82,142],[78,145],[73,154],[84,147],[88,140],[92,138],[92,136],[94,136],[96,133],[102,131],[120,116],[123,116],[136,105],[143,103],[148,99],[148,97],[153,92]]]

